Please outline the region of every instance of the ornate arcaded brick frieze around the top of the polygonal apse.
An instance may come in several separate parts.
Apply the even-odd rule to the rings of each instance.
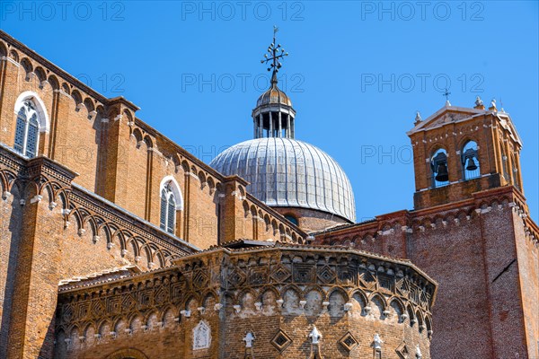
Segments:
[[[296,267],[312,271],[313,275],[289,275]],[[350,268],[355,271],[350,272]],[[342,269],[349,273],[344,281],[344,277],[338,275],[343,273]],[[247,280],[253,273],[265,280]],[[263,249],[208,250],[178,258],[173,267],[115,282],[67,283],[60,287],[56,325],[57,333],[73,337],[70,333],[75,328],[78,334],[86,335],[80,330],[92,328],[93,333],[99,331],[100,323],[110,323],[106,327],[108,331],[98,333],[102,336],[99,343],[95,340],[92,343],[86,340],[84,345],[73,343],[72,353],[92,351],[93,346],[102,345],[102,340],[110,342],[129,336],[150,335],[155,328],[163,328],[171,335],[185,330],[187,335],[196,337],[199,345],[193,343],[190,346],[198,351],[208,349],[211,344],[206,337],[197,336],[209,331],[214,336],[216,327],[225,325],[219,313],[224,313],[228,320],[259,318],[260,322],[275,315],[283,319],[298,316],[313,320],[337,316],[349,322],[360,322],[365,318],[392,322],[418,332],[422,327],[413,326],[411,321],[406,324],[407,317],[402,320],[402,316],[410,311],[431,330],[430,311],[435,295],[436,284],[408,261],[357,250],[276,243],[275,247]],[[208,305],[212,311],[208,311]],[[296,306],[301,311],[297,311]],[[367,311],[368,307],[371,311]],[[155,318],[155,322],[150,317]],[[180,319],[175,320],[177,317]],[[137,318],[143,321],[134,324],[133,320]],[[191,320],[195,322],[187,325]],[[121,331],[117,329],[119,322],[125,323],[129,332],[124,327]],[[200,323],[206,323],[208,328],[197,327]],[[189,328],[193,328],[194,334],[190,334]],[[317,324],[316,328],[327,333],[320,338],[320,343],[315,343],[317,348],[323,348],[326,340],[332,340],[335,346],[352,352],[359,345],[358,336],[362,337],[354,326],[348,327],[346,333],[336,333],[339,337],[333,337],[331,327]],[[115,336],[110,336],[110,330],[115,330]],[[306,331],[305,336],[309,332]],[[374,332],[370,334],[371,337],[374,335]],[[253,353],[256,354],[257,346],[265,345],[284,352],[288,350],[287,346],[304,338],[298,337],[296,331],[294,334],[280,331],[266,340],[267,343],[261,343],[257,338]],[[421,340],[428,346],[427,336]],[[213,338],[210,341],[214,343]],[[226,348],[219,350],[227,351]]]

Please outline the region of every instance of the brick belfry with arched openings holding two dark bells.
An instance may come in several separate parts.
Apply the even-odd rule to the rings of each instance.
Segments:
[[[472,197],[474,192],[514,186],[522,194],[522,141],[512,119],[496,101],[473,108],[449,101],[429,118],[418,112],[408,132],[413,148],[416,209]]]

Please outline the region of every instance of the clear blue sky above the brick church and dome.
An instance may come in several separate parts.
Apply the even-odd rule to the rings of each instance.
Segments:
[[[268,81],[260,59],[278,25],[296,137],[340,162],[358,221],[413,207],[405,132],[417,110],[441,108],[446,86],[456,106],[496,98],[522,136],[539,219],[535,1],[66,3],[4,1],[0,27],[98,92],[133,101],[139,118],[205,162],[252,138]]]

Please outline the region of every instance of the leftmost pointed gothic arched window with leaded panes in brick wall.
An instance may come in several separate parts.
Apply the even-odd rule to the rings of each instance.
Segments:
[[[17,112],[17,124],[15,127],[16,152],[26,157],[35,157],[38,153],[40,140],[40,118],[32,101],[24,101],[21,109]]]

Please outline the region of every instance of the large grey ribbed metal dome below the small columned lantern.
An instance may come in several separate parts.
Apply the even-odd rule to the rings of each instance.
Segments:
[[[356,219],[349,179],[327,153],[292,138],[265,137],[235,144],[210,164],[239,175],[268,206],[303,207]]]

